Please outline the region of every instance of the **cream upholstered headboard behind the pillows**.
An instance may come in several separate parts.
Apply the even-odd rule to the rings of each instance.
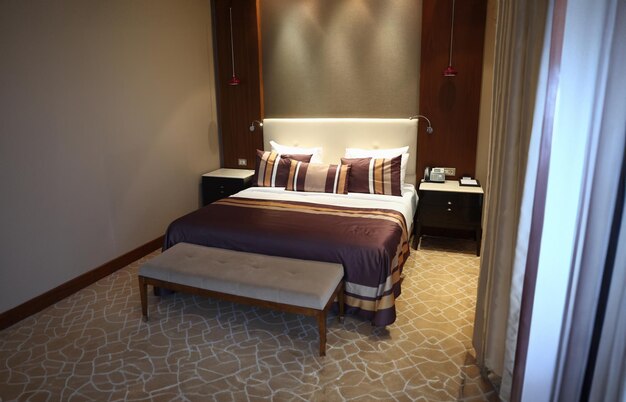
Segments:
[[[409,146],[406,181],[415,184],[417,120],[409,119],[264,119],[263,145],[322,147],[324,163],[340,163],[346,148]]]

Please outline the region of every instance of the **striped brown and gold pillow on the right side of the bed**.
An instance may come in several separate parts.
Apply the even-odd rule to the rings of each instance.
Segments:
[[[341,158],[341,163],[352,166],[349,192],[402,195],[402,155],[395,158]]]

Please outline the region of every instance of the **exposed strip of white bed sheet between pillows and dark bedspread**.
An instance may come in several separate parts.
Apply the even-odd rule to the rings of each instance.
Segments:
[[[341,207],[392,209],[404,215],[407,229],[413,225],[417,210],[415,186],[405,183],[402,197],[377,194],[329,194],[315,192],[287,191],[284,187],[250,187],[233,195],[234,197],[286,200],[328,204]]]

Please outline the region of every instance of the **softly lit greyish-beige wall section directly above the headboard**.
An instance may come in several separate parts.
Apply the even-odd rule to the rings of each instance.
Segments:
[[[421,1],[260,4],[265,117],[418,112]]]

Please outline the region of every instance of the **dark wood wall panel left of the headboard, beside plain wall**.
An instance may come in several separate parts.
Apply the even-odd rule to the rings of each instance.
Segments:
[[[257,2],[213,0],[212,6],[222,166],[254,169],[255,150],[263,148],[262,129],[249,130],[250,122],[263,118]],[[230,7],[235,73],[241,80],[237,86],[228,85],[232,77]],[[247,160],[246,166],[238,164],[240,158]]]

